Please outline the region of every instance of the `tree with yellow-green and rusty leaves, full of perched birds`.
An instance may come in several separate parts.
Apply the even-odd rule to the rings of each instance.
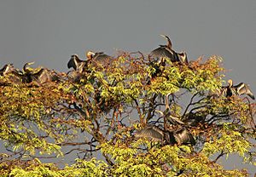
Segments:
[[[121,53],[108,65],[88,62],[76,72],[79,80],[58,73],[58,81],[14,83],[11,74],[2,76],[0,138],[8,152],[1,154],[0,173],[247,176],[218,164],[219,157],[236,153],[256,165],[255,103],[214,94],[224,83],[220,65],[218,56],[166,59],[161,66],[141,53]],[[170,117],[184,123],[195,145],[137,138],[148,125],[175,128]],[[77,155],[72,165],[54,163],[69,154]]]

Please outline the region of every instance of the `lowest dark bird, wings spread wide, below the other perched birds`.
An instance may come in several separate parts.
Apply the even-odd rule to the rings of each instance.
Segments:
[[[160,143],[166,145],[195,145],[193,135],[189,133],[187,128],[183,127],[164,130],[155,125],[146,125],[146,127],[137,131],[135,137],[160,141]]]

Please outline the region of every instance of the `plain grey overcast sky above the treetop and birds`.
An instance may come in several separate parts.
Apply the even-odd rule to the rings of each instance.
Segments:
[[[189,60],[223,57],[226,78],[250,83],[256,94],[255,0],[0,0],[0,26],[0,67],[36,61],[67,71],[71,54],[148,54],[166,43],[166,34]]]

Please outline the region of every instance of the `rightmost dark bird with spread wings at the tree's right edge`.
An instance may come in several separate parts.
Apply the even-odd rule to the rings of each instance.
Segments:
[[[249,97],[255,100],[253,92],[246,83],[233,85],[233,81],[231,79],[228,80],[228,83],[228,86],[222,87],[220,91],[218,91],[218,96],[224,95],[225,97],[230,97],[232,95],[240,96],[242,94],[247,94]]]

